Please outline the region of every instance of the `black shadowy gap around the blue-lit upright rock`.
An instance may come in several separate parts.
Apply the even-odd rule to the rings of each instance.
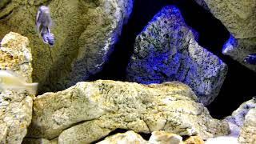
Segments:
[[[88,81],[97,79],[126,81],[126,66],[133,54],[136,36],[163,6],[168,5],[178,6],[186,24],[198,32],[199,45],[216,54],[228,65],[229,70],[222,89],[207,108],[214,118],[230,115],[242,102],[255,96],[256,74],[222,54],[222,46],[229,38],[229,32],[218,19],[198,6],[194,0],[135,0],[129,22],[123,26],[122,35],[114,46],[109,61],[101,72],[91,76]]]

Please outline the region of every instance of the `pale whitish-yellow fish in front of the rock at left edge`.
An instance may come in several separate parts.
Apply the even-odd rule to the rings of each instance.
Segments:
[[[38,83],[27,83],[26,78],[10,70],[0,70],[0,90],[27,90],[29,94],[36,94]]]

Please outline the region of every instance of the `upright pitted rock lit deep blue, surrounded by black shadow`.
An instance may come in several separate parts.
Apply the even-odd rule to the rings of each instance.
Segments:
[[[222,60],[198,46],[179,10],[166,6],[136,38],[127,78],[146,84],[184,82],[208,105],[218,95],[226,71]]]

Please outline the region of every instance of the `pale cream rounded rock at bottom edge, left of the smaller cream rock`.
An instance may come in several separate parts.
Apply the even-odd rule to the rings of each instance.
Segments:
[[[146,140],[142,138],[139,134],[136,134],[134,131],[129,130],[123,134],[114,134],[113,136],[105,138],[103,141],[98,142],[97,144],[147,144]]]

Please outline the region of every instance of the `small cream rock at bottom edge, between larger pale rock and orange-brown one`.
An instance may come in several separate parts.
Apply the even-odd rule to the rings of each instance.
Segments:
[[[150,144],[182,144],[182,137],[165,131],[154,131],[149,140]]]

